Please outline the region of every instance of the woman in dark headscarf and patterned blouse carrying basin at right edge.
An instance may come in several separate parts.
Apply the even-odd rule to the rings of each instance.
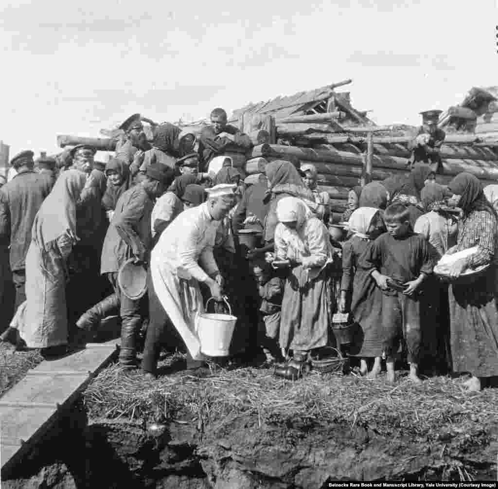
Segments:
[[[448,185],[449,202],[460,207],[457,244],[448,253],[477,246],[477,253],[455,262],[449,274],[457,278],[467,269],[489,268],[472,284],[450,285],[451,353],[455,372],[469,372],[470,391],[498,376],[497,324],[497,213],[486,199],[481,182],[470,173],[459,173]]]

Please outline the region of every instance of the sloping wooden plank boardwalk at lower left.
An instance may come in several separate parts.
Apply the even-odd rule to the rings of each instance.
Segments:
[[[1,478],[57,423],[91,379],[118,355],[119,340],[87,343],[44,360],[0,398]]]

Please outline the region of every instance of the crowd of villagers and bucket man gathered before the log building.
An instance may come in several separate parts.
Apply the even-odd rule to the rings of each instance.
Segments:
[[[409,378],[470,374],[469,390],[498,376],[496,299],[498,185],[484,190],[469,173],[447,186],[428,164],[406,176],[355,187],[347,224],[332,224],[313,165],[272,161],[246,184],[223,155],[244,152],[249,138],[215,109],[200,136],[171,124],[154,128],[152,147],[139,119],[123,125],[126,140],[104,166],[79,146],[62,163],[26,151],[11,161],[16,175],[0,190],[2,273],[15,286],[15,315],[1,335],[17,348],[59,355],[95,338],[102,319],[121,318],[119,361],[148,377],[162,349],[206,360],[199,313],[238,318],[231,357],[262,366],[294,365],[337,346],[332,316],[359,325],[347,353],[361,375],[375,377],[385,360],[406,358]],[[196,145],[194,147],[194,144]],[[195,148],[195,151],[194,151]],[[262,244],[248,249],[242,229]],[[476,247],[449,269],[437,261]],[[147,269],[147,293],[130,299],[118,280],[133,259]],[[458,277],[490,265],[469,286]]]

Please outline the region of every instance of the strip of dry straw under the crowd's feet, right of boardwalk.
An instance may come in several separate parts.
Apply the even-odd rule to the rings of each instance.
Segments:
[[[168,357],[163,367],[169,373],[155,381],[139,370],[111,365],[85,392],[89,416],[160,422],[187,411],[205,425],[244,415],[257,416],[260,424],[304,417],[415,437],[435,436],[464,419],[480,424],[498,418],[498,389],[466,394],[462,378],[435,377],[414,385],[400,373],[389,385],[385,375],[367,380],[312,372],[293,382],[268,369],[211,365],[188,371],[179,370],[181,365],[180,355]]]

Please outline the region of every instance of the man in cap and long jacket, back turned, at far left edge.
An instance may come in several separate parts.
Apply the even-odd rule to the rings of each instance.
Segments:
[[[26,300],[25,260],[31,243],[33,221],[53,186],[49,174],[34,171],[33,156],[32,151],[23,151],[14,156],[10,165],[17,174],[0,189],[0,240],[10,244],[16,309]]]

